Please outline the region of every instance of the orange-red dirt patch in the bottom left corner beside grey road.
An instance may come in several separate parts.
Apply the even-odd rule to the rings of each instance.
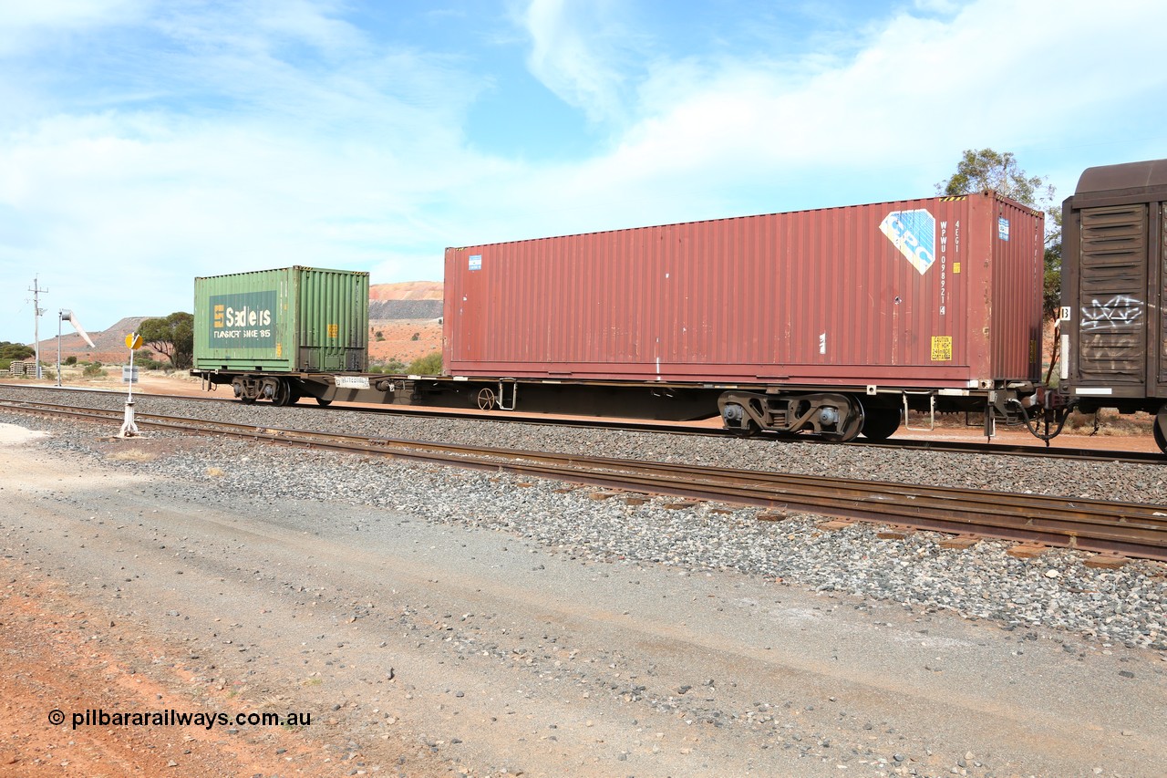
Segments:
[[[132,669],[142,657],[165,657],[167,648],[133,625],[79,610],[77,600],[25,576],[15,562],[0,560],[0,776],[287,774],[291,758],[308,773],[336,773],[303,738],[281,728],[228,736],[202,727],[50,723],[53,710],[194,713],[243,703],[179,665]]]

